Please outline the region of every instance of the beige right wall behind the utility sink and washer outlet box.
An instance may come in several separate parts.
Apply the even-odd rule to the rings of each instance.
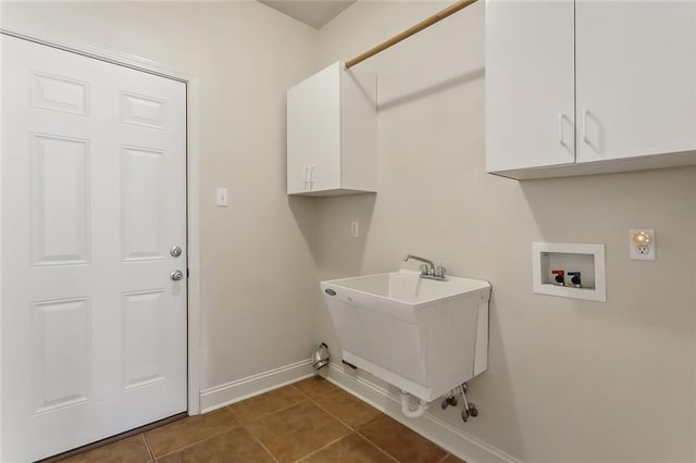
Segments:
[[[320,32],[321,65],[442,8],[358,2]],[[470,384],[480,415],[434,413],[529,462],[695,461],[696,168],[486,175],[483,1],[360,66],[378,75],[378,192],[320,200],[320,278],[415,268],[410,252],[493,283],[489,370]],[[629,260],[641,226],[657,229],[656,262]],[[607,303],[533,295],[537,240],[605,243]],[[318,315],[339,356],[323,302]]]

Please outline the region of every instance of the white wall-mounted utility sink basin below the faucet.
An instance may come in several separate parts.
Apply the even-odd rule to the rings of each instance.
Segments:
[[[321,283],[344,360],[431,401],[488,364],[485,280],[398,271]]]

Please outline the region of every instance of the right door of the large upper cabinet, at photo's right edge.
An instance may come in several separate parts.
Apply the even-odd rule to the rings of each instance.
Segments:
[[[576,4],[577,162],[696,149],[696,2]]]

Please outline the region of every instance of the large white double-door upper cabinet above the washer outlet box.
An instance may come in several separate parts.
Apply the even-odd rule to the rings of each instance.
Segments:
[[[696,164],[696,0],[487,0],[486,114],[512,178]]]

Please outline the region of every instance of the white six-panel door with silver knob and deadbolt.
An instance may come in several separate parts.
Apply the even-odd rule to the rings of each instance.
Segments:
[[[24,462],[186,410],[186,86],[1,37],[0,461]]]

